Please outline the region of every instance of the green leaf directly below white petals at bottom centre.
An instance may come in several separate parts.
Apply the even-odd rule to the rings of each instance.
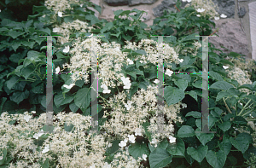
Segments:
[[[150,151],[148,149],[148,146],[146,143],[131,143],[131,145],[128,148],[129,154],[134,159],[138,159],[138,157],[143,158],[143,154],[147,154],[147,156],[150,154]]]

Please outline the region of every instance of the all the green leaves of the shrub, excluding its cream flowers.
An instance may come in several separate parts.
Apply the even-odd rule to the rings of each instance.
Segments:
[[[0,14],[1,26],[1,42],[0,42],[0,95],[3,97],[0,104],[0,112],[8,111],[15,113],[15,110],[20,109],[22,104],[29,104],[26,110],[35,110],[43,113],[46,108],[46,53],[42,49],[46,49],[45,38],[39,36],[55,35],[52,30],[52,16],[54,13],[46,9],[43,5],[33,6],[32,14],[24,14],[26,19],[14,18],[15,15],[9,10],[10,4],[15,1],[5,1],[3,17]],[[31,3],[32,1],[20,1],[18,4]],[[105,35],[102,41],[111,43],[116,42],[125,45],[125,41],[140,42],[144,38],[153,39],[150,35],[165,35],[164,43],[172,45],[179,54],[179,59],[183,62],[176,65],[172,63],[172,71],[175,72],[201,72],[201,55],[199,49],[197,55],[191,55],[189,52],[181,54],[183,49],[193,48],[193,43],[201,43],[200,38],[195,37],[196,31],[200,35],[211,34],[214,22],[207,18],[196,17],[195,9],[181,9],[180,12],[170,13],[154,19],[154,25],[150,26],[151,30],[146,31],[147,25],[140,19],[144,11],[137,9],[117,10],[114,12],[114,20],[99,20],[94,15],[95,13],[87,7],[93,7],[101,12],[101,8],[96,4],[87,2],[84,3],[82,9],[79,5],[71,4],[73,9],[67,10],[67,16],[58,17],[55,21],[58,25],[73,20],[83,20],[89,23],[90,26],[98,27],[92,32],[96,35]],[[15,8],[13,8],[15,9]],[[137,14],[130,15],[132,12]],[[37,14],[36,14],[37,13]],[[43,17],[43,15],[45,16]],[[120,19],[119,16],[129,16],[129,19]],[[19,21],[17,21],[19,20]],[[26,20],[26,21],[25,21]],[[176,33],[174,33],[176,32]],[[80,35],[73,34],[70,37],[70,42],[74,42],[74,37]],[[86,37],[81,36],[83,39]],[[67,63],[71,55],[64,55],[61,52],[61,46],[57,46],[55,38],[53,38],[53,69]],[[229,166],[245,166],[241,165],[237,160],[243,161],[249,159],[249,156],[256,154],[253,147],[253,137],[244,132],[237,131],[234,136],[234,128],[240,128],[241,125],[247,125],[249,115],[256,117],[255,111],[255,91],[256,82],[253,84],[239,85],[236,80],[227,78],[227,72],[224,70],[224,65],[234,67],[231,61],[225,60],[224,53],[217,55],[212,43],[209,45],[209,130],[216,133],[204,133],[201,131],[201,74],[172,74],[171,77],[165,75],[164,98],[168,106],[176,104],[179,101],[189,101],[187,109],[181,112],[184,119],[184,124],[175,126],[177,130],[174,134],[176,142],[170,143],[166,139],[162,140],[156,148],[148,142],[131,143],[128,151],[135,159],[142,158],[143,154],[147,154],[150,167],[168,167],[174,164],[175,159],[183,160],[185,166],[212,166],[214,168],[229,167]],[[127,52],[128,57],[134,60],[138,55],[146,55],[144,50],[121,49],[122,52]],[[239,54],[230,52],[230,57],[238,57]],[[169,62],[165,62],[169,64]],[[256,64],[255,64],[256,65]],[[149,84],[153,84],[154,78],[157,78],[157,67],[152,63],[141,63],[136,61],[133,65],[124,65],[121,72],[125,77],[131,78],[131,89],[129,90],[128,99],[131,100],[137,90],[146,90]],[[253,74],[253,72],[252,72]],[[251,79],[255,80],[256,75],[253,74]],[[99,83],[102,82],[101,80]],[[83,113],[90,115],[90,84],[84,84],[83,80],[75,83],[72,89],[67,89],[64,84],[72,84],[70,74],[53,75],[54,87],[54,111],[61,112],[64,109],[68,112]],[[241,92],[240,89],[250,90],[250,94]],[[111,89],[111,94],[103,95],[108,98],[117,94],[119,89]],[[102,94],[102,89],[99,88],[99,95]],[[93,100],[96,97],[92,98]],[[93,101],[92,100],[92,101]],[[193,102],[197,102],[197,108],[193,109]],[[242,104],[240,104],[242,103]],[[196,103],[195,103],[196,104]],[[33,106],[32,106],[33,105]],[[69,105],[69,106],[67,106]],[[26,107],[26,105],[25,105]],[[102,106],[99,105],[99,114],[102,115]],[[16,113],[23,113],[19,110]],[[40,113],[37,113],[39,115]],[[226,114],[228,113],[228,114]],[[100,119],[100,125],[103,125],[104,119]],[[14,124],[12,121],[9,124]],[[148,131],[148,121],[143,123],[146,129],[145,138],[152,140],[151,134]],[[247,126],[249,127],[249,126]],[[54,127],[44,125],[44,131],[53,131]],[[73,125],[64,125],[66,131],[72,131]],[[252,128],[250,128],[253,132]],[[45,140],[49,134],[41,136],[40,141]],[[119,142],[121,140],[113,140],[112,147],[107,149],[106,161],[110,163],[114,155],[119,151]],[[43,141],[44,142],[44,141]],[[42,143],[43,143],[42,142]],[[38,142],[40,144],[41,142]],[[41,144],[42,145],[42,144]],[[39,145],[40,146],[40,145]],[[2,149],[1,149],[2,150]],[[11,159],[7,155],[7,150],[3,149],[3,159],[0,160],[1,166],[7,166]],[[252,153],[252,154],[250,154]],[[243,156],[241,158],[240,156]],[[232,161],[233,160],[233,161]],[[232,162],[230,164],[230,162]],[[43,167],[50,167],[49,159],[41,163]],[[183,165],[181,165],[183,166]]]

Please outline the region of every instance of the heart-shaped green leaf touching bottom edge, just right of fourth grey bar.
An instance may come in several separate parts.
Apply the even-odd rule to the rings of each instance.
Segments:
[[[222,150],[219,150],[218,152],[213,152],[212,150],[209,150],[207,155],[207,162],[212,165],[214,168],[223,168],[225,161],[227,159],[227,155],[224,154]]]

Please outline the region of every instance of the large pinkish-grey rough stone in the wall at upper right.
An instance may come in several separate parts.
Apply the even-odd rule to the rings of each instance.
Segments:
[[[214,20],[216,28],[219,28],[218,36],[209,38],[209,43],[212,43],[216,49],[222,50],[229,54],[231,51],[241,55],[248,55],[247,36],[241,29],[241,23],[238,20]],[[223,46],[227,49],[221,48]],[[220,52],[215,50],[217,54]]]

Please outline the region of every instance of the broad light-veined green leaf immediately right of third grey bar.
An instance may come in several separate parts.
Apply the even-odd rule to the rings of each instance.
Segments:
[[[171,106],[172,104],[176,104],[179,101],[182,101],[185,97],[184,91],[174,88],[172,86],[166,86],[164,89],[165,92],[165,99],[168,104],[168,106]]]

